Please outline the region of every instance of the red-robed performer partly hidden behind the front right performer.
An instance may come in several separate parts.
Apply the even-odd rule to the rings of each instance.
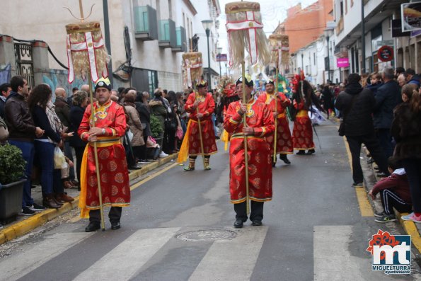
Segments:
[[[284,93],[275,93],[275,82],[269,79],[265,83],[266,93],[259,96],[258,101],[267,104],[269,110],[272,112],[274,119],[277,118],[277,142],[276,154],[279,154],[279,159],[285,164],[291,164],[287,158],[287,154],[292,154],[292,137],[289,131],[289,122],[286,114],[286,108],[291,105],[289,98]],[[275,106],[275,98],[277,105]],[[266,138],[270,144],[271,153],[273,155],[274,137]],[[272,159],[272,166],[275,166],[276,161]]]

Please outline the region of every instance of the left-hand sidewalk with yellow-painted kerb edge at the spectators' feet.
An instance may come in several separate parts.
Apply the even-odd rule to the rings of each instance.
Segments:
[[[154,170],[155,168],[158,168],[159,166],[167,164],[177,157],[178,154],[171,154],[166,158],[158,159],[156,162],[142,164],[142,169],[140,170],[130,170],[130,183],[132,184],[132,182],[137,180],[137,178],[140,178],[140,176]],[[49,222],[50,220],[59,217],[62,214],[66,214],[67,212],[76,209],[79,204],[79,191],[77,189],[70,188],[65,189],[64,192],[66,192],[67,195],[74,197],[74,202],[64,203],[64,205],[57,210],[47,209],[42,212],[36,212],[33,216],[30,217],[18,215],[15,222],[6,224],[2,229],[0,229],[0,245],[7,241],[16,239],[23,234],[27,234],[38,226],[41,226],[42,224],[45,224],[46,222]],[[42,193],[40,185],[32,189],[32,197],[36,203],[42,205]]]

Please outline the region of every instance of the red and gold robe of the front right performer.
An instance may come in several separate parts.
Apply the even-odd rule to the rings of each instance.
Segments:
[[[231,202],[246,201],[246,164],[244,162],[243,117],[238,114],[240,101],[230,103],[224,119],[226,132],[232,134],[229,148]],[[248,188],[250,200],[272,200],[272,156],[265,137],[273,134],[273,115],[265,103],[252,100],[246,113],[248,127],[255,134],[247,137]]]

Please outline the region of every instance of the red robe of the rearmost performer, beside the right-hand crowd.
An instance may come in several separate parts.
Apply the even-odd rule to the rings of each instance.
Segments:
[[[308,117],[308,110],[304,106],[304,101],[301,100],[301,103],[298,104],[294,101],[294,108],[297,110],[294,129],[292,130],[294,149],[314,149],[313,127],[311,126],[310,117]]]

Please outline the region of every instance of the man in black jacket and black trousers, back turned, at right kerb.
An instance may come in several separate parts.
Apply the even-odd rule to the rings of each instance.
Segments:
[[[352,156],[352,178],[354,180],[352,186],[359,187],[362,186],[364,179],[359,162],[361,144],[365,144],[369,149],[381,172],[388,173],[388,167],[386,156],[381,151],[374,133],[371,114],[376,100],[373,93],[368,88],[362,88],[359,84],[361,76],[358,74],[350,74],[348,81],[345,91],[339,93],[335,108],[342,111],[342,116],[344,116],[342,122],[345,125],[345,137],[347,137]]]

